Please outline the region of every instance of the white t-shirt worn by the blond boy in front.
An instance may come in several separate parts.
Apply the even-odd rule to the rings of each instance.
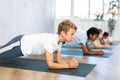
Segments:
[[[58,44],[58,34],[24,35],[21,39],[21,51],[24,55],[44,54],[47,50],[54,53],[61,50],[62,43]]]

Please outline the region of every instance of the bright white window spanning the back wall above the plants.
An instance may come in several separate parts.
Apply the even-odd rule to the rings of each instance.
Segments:
[[[56,0],[56,18],[95,19],[96,14],[104,13],[104,19],[109,19],[110,5],[116,2],[117,0]]]

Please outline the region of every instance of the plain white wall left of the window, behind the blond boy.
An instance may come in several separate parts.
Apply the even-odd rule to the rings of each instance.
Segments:
[[[53,32],[54,0],[0,0],[0,44],[19,34]]]

